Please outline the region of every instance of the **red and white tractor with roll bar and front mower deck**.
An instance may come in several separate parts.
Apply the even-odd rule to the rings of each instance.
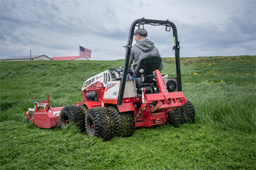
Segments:
[[[143,29],[145,24],[163,25],[166,31],[172,30],[175,78],[160,73],[162,59],[157,55],[143,57],[134,69],[133,78],[127,74],[134,29],[137,26]],[[131,136],[139,127],[166,122],[174,127],[193,123],[195,108],[182,92],[179,44],[173,22],[145,18],[134,20],[125,46],[124,67],[108,69],[84,81],[83,102],[58,108],[51,108],[49,96],[41,103],[35,102],[35,108],[26,112],[28,122],[47,129],[74,124],[88,136],[103,140]]]

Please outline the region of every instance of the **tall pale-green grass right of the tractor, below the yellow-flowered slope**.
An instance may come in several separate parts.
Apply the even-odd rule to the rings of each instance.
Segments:
[[[241,87],[236,84],[202,82],[185,83],[184,87],[185,96],[193,101],[196,113],[199,113],[198,121],[222,124],[243,132],[256,132],[255,85]],[[211,92],[205,92],[204,89],[211,89]]]

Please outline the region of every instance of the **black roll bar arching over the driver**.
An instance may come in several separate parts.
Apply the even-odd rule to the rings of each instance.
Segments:
[[[124,97],[124,88],[125,88],[125,81],[126,81],[126,76],[127,76],[127,69],[128,69],[128,64],[129,64],[129,59],[130,59],[130,54],[131,54],[131,48],[132,48],[132,39],[134,36],[134,29],[137,24],[158,24],[158,25],[170,25],[172,27],[173,31],[173,50],[175,50],[175,62],[176,62],[176,72],[177,72],[177,83],[178,83],[178,91],[182,91],[181,87],[181,74],[180,74],[180,42],[178,41],[178,33],[177,33],[177,28],[173,22],[170,22],[169,20],[149,20],[145,18],[140,18],[138,20],[134,20],[132,22],[132,25],[130,27],[130,32],[129,32],[129,37],[128,37],[128,42],[126,45],[126,52],[125,52],[125,59],[124,59],[124,71],[123,71],[123,76],[118,92],[118,100],[117,104],[122,105],[123,102],[123,97]]]

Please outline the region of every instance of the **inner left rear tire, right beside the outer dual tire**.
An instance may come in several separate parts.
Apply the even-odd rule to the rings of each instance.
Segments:
[[[134,132],[134,118],[132,112],[120,113],[116,106],[109,106],[108,110],[111,112],[115,121],[115,136],[123,138],[132,136]]]

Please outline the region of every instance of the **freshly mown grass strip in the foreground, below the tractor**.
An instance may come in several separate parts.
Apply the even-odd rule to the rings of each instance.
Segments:
[[[3,127],[4,126],[4,127]],[[103,142],[70,127],[1,124],[1,169],[253,169],[255,135],[218,125],[161,125]],[[3,137],[3,136],[1,136]]]

